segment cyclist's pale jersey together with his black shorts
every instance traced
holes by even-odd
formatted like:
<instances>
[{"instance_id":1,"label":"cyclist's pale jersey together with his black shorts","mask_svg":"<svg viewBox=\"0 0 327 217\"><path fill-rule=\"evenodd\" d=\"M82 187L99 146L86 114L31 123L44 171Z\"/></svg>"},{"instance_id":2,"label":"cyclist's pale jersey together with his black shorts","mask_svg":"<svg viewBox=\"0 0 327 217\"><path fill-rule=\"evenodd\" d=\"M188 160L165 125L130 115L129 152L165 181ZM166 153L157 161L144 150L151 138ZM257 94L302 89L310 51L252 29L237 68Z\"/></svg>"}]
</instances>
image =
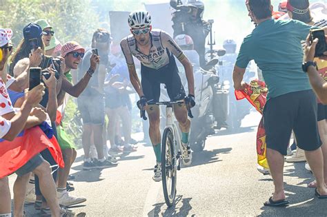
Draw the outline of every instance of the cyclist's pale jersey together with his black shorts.
<instances>
[{"instance_id":1,"label":"cyclist's pale jersey together with his black shorts","mask_svg":"<svg viewBox=\"0 0 327 217\"><path fill-rule=\"evenodd\" d=\"M174 40L164 31L150 32L150 53L143 54L137 48L135 38L130 35L121 41L121 50L128 65L134 65L132 56L141 61L141 86L146 99L159 101L160 84L164 83L170 100L184 99L186 96L174 56L184 59L184 53Z\"/></svg>"}]
</instances>

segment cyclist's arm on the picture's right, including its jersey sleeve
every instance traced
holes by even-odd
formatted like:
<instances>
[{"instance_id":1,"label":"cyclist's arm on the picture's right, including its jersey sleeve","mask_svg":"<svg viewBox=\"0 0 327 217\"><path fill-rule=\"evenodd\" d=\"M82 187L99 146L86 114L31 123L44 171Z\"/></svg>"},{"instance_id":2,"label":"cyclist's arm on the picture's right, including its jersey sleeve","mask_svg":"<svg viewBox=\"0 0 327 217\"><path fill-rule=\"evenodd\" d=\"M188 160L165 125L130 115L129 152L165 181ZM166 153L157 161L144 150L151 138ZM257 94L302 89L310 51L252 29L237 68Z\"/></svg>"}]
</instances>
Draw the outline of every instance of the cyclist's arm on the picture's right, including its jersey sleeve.
<instances>
[{"instance_id":1,"label":"cyclist's arm on the picture's right, including its jersey sleeve","mask_svg":"<svg viewBox=\"0 0 327 217\"><path fill-rule=\"evenodd\" d=\"M172 54L174 54L179 62L181 62L181 64L184 66L186 79L188 80L188 94L192 94L194 96L194 77L192 63L190 63L184 52L181 50L181 48L179 48L179 45L175 43L169 34L162 31L160 37L164 48L168 48L168 50L172 52Z\"/></svg>"}]
</instances>

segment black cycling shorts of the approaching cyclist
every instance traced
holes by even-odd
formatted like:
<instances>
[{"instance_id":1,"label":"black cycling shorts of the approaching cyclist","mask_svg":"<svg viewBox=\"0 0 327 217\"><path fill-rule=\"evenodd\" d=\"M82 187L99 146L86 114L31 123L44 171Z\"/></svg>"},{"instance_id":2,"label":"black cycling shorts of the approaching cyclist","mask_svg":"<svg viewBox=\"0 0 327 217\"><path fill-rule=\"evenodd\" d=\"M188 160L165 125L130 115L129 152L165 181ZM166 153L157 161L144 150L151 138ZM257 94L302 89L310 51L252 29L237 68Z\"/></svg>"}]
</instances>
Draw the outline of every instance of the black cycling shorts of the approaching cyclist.
<instances>
[{"instance_id":1,"label":"black cycling shorts of the approaching cyclist","mask_svg":"<svg viewBox=\"0 0 327 217\"><path fill-rule=\"evenodd\" d=\"M170 63L159 70L141 67L141 85L144 96L148 101L158 102L160 98L160 84L166 85L170 101L184 99L186 92L181 84L176 63Z\"/></svg>"}]
</instances>

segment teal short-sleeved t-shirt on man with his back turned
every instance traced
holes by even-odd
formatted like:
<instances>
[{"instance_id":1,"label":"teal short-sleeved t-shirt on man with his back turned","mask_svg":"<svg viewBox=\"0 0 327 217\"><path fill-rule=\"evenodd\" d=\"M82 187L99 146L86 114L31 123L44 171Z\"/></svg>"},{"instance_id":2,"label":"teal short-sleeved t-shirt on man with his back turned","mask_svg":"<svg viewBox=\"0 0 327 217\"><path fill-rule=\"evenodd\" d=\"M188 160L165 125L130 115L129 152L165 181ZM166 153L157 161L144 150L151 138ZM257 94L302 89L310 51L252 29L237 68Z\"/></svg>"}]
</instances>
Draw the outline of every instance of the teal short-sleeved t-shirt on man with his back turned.
<instances>
[{"instance_id":1,"label":"teal short-sleeved t-shirt on man with his back turned","mask_svg":"<svg viewBox=\"0 0 327 217\"><path fill-rule=\"evenodd\" d=\"M268 85L267 99L310 90L308 75L301 69L301 40L306 39L310 28L293 19L264 21L244 39L235 65L246 68L251 60L257 63Z\"/></svg>"}]
</instances>

